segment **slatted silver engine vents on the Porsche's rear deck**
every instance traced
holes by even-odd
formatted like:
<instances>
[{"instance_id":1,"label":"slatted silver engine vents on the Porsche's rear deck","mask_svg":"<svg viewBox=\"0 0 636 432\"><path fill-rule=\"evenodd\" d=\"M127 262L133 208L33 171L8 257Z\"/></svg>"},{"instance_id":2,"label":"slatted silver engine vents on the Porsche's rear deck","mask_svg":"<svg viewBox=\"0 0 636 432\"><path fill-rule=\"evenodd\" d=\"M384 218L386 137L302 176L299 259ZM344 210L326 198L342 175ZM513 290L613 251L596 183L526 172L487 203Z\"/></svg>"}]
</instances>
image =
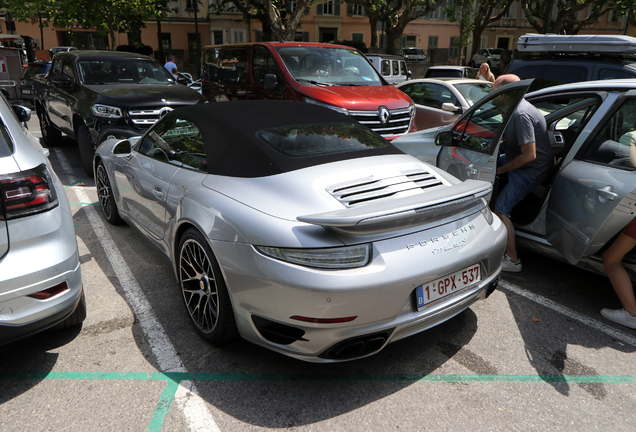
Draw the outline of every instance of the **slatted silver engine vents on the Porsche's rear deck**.
<instances>
[{"instance_id":1,"label":"slatted silver engine vents on the Porsche's rear deck","mask_svg":"<svg viewBox=\"0 0 636 432\"><path fill-rule=\"evenodd\" d=\"M413 195L444 186L435 174L426 170L415 170L403 171L402 175L383 179L368 177L352 180L328 187L327 192L345 207L353 207L398 194Z\"/></svg>"}]
</instances>

